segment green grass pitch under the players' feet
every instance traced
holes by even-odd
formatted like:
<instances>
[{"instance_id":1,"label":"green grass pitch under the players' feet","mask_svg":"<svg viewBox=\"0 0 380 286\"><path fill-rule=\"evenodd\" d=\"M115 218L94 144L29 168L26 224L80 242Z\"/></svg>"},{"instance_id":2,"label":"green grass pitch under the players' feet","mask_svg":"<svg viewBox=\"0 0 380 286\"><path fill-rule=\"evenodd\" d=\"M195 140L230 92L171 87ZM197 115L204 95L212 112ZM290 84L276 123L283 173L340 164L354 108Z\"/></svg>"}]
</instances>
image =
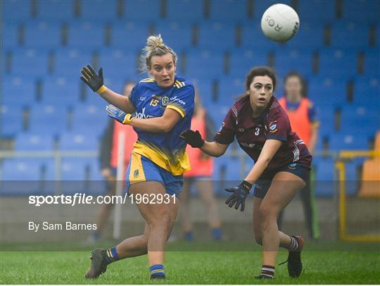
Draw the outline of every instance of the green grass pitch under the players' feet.
<instances>
[{"instance_id":1,"label":"green grass pitch under the players' feet","mask_svg":"<svg viewBox=\"0 0 380 286\"><path fill-rule=\"evenodd\" d=\"M236 244L236 242L235 242ZM252 244L252 243L251 243ZM167 279L153 284L379 284L379 244L309 243L303 251L304 271L289 278L286 264L276 266L276 278L258 281L260 248L233 251L234 244L177 243L169 246ZM242 244L241 244L242 245ZM88 248L85 247L86 249ZM4 247L3 247L4 249ZM170 250L171 249L171 250ZM182 251L178 251L183 249ZM185 250L186 249L186 250ZM212 251L201 251L212 249ZM222 251L223 249L224 251ZM1 284L150 284L146 256L108 266L97 280L86 280L89 251L1 251ZM280 251L278 262L286 260Z\"/></svg>"}]
</instances>

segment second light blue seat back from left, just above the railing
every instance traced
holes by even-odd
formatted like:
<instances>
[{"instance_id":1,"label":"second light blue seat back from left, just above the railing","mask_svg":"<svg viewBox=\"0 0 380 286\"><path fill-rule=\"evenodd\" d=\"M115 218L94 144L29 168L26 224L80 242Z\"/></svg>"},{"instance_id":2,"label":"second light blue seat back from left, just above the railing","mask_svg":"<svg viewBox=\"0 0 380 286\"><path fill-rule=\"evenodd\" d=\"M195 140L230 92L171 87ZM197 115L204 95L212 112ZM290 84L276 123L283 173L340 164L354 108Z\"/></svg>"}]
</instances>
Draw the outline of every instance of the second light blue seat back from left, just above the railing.
<instances>
[{"instance_id":1,"label":"second light blue seat back from left, just above the railing","mask_svg":"<svg viewBox=\"0 0 380 286\"><path fill-rule=\"evenodd\" d=\"M61 151L97 151L98 139L82 133L61 133L59 147Z\"/></svg>"}]
</instances>

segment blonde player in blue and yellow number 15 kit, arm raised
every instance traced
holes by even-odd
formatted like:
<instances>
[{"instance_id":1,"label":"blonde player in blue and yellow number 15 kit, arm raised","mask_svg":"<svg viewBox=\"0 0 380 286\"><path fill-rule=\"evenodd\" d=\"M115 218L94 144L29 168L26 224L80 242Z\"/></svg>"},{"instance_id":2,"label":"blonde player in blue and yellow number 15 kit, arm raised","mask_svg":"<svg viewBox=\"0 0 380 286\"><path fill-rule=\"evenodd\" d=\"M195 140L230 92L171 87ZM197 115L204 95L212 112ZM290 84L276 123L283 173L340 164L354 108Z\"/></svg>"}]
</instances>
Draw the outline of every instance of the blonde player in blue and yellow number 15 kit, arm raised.
<instances>
[{"instance_id":1,"label":"blonde player in blue and yellow number 15 kit, arm raised","mask_svg":"<svg viewBox=\"0 0 380 286\"><path fill-rule=\"evenodd\" d=\"M144 52L144 64L153 78L141 80L129 98L103 85L102 69L99 74L91 66L81 70L82 80L112 104L106 108L108 116L137 132L126 185L146 221L144 234L110 249L91 251L87 278L99 277L109 263L143 254L148 254L151 279L165 278L164 249L177 217L182 174L190 169L186 143L179 134L190 128L194 87L175 75L177 54L160 35L148 37Z\"/></svg>"}]
</instances>

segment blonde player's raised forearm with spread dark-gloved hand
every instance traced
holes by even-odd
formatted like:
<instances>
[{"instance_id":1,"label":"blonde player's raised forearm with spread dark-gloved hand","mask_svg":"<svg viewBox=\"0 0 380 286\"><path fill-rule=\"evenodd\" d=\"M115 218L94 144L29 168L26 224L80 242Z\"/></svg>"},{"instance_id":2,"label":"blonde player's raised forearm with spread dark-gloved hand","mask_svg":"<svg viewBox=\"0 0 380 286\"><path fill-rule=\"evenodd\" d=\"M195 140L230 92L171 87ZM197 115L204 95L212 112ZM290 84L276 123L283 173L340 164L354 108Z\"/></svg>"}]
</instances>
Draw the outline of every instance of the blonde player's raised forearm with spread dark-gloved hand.
<instances>
[{"instance_id":1,"label":"blonde player's raised forearm with spread dark-gloved hand","mask_svg":"<svg viewBox=\"0 0 380 286\"><path fill-rule=\"evenodd\" d=\"M99 69L99 73L96 74L94 68L87 65L80 71L80 79L88 85L93 92L98 93L103 99L108 101L113 106L120 108L126 113L133 113L135 111L134 105L129 101L128 97L118 94L108 89L103 82L103 68Z\"/></svg>"}]
</instances>

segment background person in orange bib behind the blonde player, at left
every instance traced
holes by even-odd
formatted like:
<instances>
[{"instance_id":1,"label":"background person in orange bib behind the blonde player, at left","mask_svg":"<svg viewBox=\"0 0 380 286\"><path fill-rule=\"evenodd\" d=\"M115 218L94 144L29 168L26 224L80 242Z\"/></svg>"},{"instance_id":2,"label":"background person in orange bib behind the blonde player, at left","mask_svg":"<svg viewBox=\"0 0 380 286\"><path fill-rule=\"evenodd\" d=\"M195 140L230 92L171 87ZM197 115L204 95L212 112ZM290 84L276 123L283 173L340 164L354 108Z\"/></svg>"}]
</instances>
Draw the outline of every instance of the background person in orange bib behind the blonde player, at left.
<instances>
[{"instance_id":1,"label":"background person in orange bib behind the blonde player, at left","mask_svg":"<svg viewBox=\"0 0 380 286\"><path fill-rule=\"evenodd\" d=\"M123 95L129 97L134 82L127 82L124 86ZM132 126L119 123L117 120L110 118L106 130L103 133L100 144L100 164L101 175L107 181L107 195L113 196L116 194L116 170L118 168L118 137L120 131L125 132L125 168L129 163L129 156L133 149L134 142L137 141L137 134ZM123 171L125 174L125 171ZM124 180L124 179L123 179ZM96 218L97 229L89 237L89 242L96 242L101 237L101 233L106 228L110 211L113 209L113 204L102 204Z\"/></svg>"}]
</instances>

